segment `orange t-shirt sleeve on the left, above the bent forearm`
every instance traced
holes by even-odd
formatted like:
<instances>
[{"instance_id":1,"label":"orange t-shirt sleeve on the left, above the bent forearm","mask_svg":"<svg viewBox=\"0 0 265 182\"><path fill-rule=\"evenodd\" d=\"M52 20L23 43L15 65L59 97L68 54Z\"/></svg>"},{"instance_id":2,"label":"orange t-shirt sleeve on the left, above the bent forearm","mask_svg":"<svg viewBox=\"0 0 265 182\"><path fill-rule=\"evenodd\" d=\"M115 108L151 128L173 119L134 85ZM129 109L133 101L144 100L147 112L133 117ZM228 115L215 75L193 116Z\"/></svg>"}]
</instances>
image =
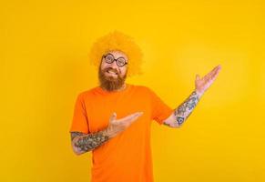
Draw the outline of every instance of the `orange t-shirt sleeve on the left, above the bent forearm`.
<instances>
[{"instance_id":1,"label":"orange t-shirt sleeve on the left, above the bent forearm","mask_svg":"<svg viewBox=\"0 0 265 182\"><path fill-rule=\"evenodd\" d=\"M84 99L81 94L76 98L76 104L74 108L74 115L72 118L72 124L70 127L70 132L82 132L88 134L88 119L87 111L84 103Z\"/></svg>"}]
</instances>

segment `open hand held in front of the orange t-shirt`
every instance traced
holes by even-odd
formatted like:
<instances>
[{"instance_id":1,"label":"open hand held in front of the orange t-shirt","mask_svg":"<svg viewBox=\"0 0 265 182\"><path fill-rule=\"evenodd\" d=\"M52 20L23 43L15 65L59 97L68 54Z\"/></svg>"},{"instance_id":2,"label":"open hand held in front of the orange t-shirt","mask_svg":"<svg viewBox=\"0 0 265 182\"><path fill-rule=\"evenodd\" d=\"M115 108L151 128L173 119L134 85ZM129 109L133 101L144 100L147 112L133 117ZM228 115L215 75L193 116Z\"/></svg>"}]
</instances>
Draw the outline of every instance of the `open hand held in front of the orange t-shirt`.
<instances>
[{"instance_id":1,"label":"open hand held in front of the orange t-shirt","mask_svg":"<svg viewBox=\"0 0 265 182\"><path fill-rule=\"evenodd\" d=\"M105 130L105 134L109 137L117 136L120 132L124 131L128 126L130 126L134 121L142 116L143 112L137 112L132 115L116 119L117 114L113 113L109 118L109 124Z\"/></svg>"}]
</instances>

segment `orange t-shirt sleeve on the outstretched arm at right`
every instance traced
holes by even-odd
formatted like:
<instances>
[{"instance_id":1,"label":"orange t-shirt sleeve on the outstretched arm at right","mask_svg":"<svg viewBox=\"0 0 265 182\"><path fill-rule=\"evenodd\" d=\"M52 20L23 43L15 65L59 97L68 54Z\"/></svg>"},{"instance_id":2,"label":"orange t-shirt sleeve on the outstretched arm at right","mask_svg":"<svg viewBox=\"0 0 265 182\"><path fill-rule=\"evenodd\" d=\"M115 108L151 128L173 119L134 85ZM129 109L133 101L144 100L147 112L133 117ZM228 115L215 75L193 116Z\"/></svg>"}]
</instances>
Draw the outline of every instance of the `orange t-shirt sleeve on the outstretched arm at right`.
<instances>
[{"instance_id":1,"label":"orange t-shirt sleeve on the outstretched arm at right","mask_svg":"<svg viewBox=\"0 0 265 182\"><path fill-rule=\"evenodd\" d=\"M151 118L161 125L174 112L174 109L168 106L154 91L149 89L149 92L152 109Z\"/></svg>"}]
</instances>

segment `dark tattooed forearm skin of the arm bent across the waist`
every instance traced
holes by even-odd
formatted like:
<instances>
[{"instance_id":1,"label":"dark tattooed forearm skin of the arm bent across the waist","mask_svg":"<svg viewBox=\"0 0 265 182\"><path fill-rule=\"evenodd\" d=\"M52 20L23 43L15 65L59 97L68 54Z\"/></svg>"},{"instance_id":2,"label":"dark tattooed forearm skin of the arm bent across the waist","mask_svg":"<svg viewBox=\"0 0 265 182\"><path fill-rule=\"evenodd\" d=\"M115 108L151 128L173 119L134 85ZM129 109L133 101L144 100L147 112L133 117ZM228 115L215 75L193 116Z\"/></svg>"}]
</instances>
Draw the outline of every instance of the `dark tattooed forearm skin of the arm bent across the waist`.
<instances>
[{"instance_id":1,"label":"dark tattooed forearm skin of the arm bent across the waist","mask_svg":"<svg viewBox=\"0 0 265 182\"><path fill-rule=\"evenodd\" d=\"M94 134L71 132L71 139L78 153L85 153L101 146L109 139L109 136L106 136L103 131L99 131Z\"/></svg>"}]
</instances>

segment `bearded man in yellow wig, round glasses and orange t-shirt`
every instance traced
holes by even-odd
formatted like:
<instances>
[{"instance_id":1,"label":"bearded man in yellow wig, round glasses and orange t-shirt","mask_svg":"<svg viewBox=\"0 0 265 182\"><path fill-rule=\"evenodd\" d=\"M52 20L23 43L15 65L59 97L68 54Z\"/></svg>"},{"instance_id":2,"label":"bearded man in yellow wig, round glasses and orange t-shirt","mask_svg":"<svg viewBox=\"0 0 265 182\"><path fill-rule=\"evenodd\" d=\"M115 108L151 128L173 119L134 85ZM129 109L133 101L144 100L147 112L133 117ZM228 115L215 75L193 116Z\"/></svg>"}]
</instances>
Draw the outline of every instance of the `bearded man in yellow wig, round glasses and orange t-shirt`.
<instances>
[{"instance_id":1,"label":"bearded man in yellow wig, round glasses and orange t-shirt","mask_svg":"<svg viewBox=\"0 0 265 182\"><path fill-rule=\"evenodd\" d=\"M151 121L181 126L220 66L202 78L197 75L194 91L172 109L147 86L125 82L127 75L141 73L141 52L127 35L114 32L98 39L90 57L98 66L100 86L77 96L70 128L73 150L76 155L92 151L92 182L151 182Z\"/></svg>"}]
</instances>

